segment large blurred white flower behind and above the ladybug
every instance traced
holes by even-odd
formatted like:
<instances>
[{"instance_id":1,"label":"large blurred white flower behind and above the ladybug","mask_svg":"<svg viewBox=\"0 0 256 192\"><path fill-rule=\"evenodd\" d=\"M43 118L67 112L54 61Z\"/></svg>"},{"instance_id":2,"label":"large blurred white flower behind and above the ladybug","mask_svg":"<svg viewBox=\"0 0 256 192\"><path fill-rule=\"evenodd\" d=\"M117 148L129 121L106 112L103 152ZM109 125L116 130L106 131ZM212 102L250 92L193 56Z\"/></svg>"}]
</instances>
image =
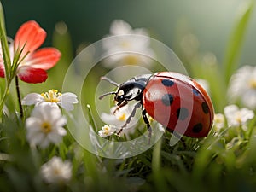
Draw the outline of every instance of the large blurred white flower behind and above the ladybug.
<instances>
[{"instance_id":1,"label":"large blurred white flower behind and above the ladybug","mask_svg":"<svg viewBox=\"0 0 256 192\"><path fill-rule=\"evenodd\" d=\"M109 37L112 38L105 38L102 42L103 49L111 55L105 62L108 67L117 64L148 65L152 63L153 60L149 57L154 55L154 51L149 46L150 38L145 29L132 29L124 20L113 20ZM116 52L119 54L112 55Z\"/></svg>"}]
</instances>

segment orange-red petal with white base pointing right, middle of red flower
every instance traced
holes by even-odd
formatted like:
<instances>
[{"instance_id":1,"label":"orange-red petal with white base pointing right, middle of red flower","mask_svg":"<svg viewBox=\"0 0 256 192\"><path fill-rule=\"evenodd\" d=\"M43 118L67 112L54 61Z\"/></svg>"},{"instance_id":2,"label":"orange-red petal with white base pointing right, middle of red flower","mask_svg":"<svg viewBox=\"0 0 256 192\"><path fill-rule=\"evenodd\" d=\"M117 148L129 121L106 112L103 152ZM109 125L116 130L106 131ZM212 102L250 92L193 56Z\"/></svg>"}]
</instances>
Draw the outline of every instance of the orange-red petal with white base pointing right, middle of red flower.
<instances>
[{"instance_id":1,"label":"orange-red petal with white base pointing right, middle of red flower","mask_svg":"<svg viewBox=\"0 0 256 192\"><path fill-rule=\"evenodd\" d=\"M57 61L61 58L61 52L55 48L43 48L38 49L29 55L27 59L27 65L31 65L34 68L42 68L48 70L54 67Z\"/></svg>"}]
</instances>

